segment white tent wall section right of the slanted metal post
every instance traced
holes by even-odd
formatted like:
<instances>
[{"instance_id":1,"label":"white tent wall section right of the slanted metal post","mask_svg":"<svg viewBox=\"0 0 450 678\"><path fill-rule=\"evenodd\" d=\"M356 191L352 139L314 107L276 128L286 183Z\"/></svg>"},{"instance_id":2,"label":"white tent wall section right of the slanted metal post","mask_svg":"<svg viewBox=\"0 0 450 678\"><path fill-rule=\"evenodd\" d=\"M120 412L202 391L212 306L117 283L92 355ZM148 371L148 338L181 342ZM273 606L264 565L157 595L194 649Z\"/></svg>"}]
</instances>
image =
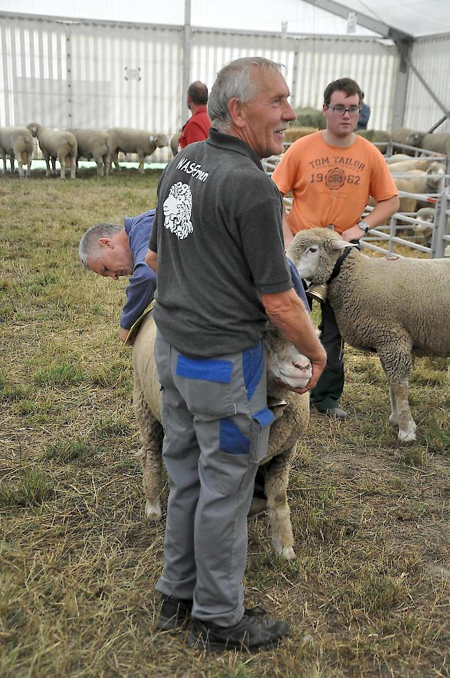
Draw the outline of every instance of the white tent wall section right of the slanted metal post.
<instances>
[{"instance_id":1,"label":"white tent wall section right of the slanted metal post","mask_svg":"<svg viewBox=\"0 0 450 678\"><path fill-rule=\"evenodd\" d=\"M411 62L438 99L450 110L450 33L419 37L411 50ZM413 71L408 78L405 127L426 132L444 115L440 106ZM447 118L436 132L450 132Z\"/></svg>"}]
</instances>

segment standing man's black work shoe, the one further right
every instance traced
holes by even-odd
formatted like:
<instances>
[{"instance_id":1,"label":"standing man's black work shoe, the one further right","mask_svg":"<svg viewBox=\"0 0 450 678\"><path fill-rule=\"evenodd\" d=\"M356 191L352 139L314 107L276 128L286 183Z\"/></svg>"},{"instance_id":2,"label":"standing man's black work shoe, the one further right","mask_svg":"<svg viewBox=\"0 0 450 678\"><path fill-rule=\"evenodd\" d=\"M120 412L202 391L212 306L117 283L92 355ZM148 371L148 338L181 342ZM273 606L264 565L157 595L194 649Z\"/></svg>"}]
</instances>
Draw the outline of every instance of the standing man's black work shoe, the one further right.
<instances>
[{"instance_id":1,"label":"standing man's black work shoe, the one further right","mask_svg":"<svg viewBox=\"0 0 450 678\"><path fill-rule=\"evenodd\" d=\"M262 608L256 607L246 609L242 619L233 626L218 626L213 622L193 619L188 645L199 650L255 650L277 645L290 632L286 622L273 619Z\"/></svg>"}]
</instances>

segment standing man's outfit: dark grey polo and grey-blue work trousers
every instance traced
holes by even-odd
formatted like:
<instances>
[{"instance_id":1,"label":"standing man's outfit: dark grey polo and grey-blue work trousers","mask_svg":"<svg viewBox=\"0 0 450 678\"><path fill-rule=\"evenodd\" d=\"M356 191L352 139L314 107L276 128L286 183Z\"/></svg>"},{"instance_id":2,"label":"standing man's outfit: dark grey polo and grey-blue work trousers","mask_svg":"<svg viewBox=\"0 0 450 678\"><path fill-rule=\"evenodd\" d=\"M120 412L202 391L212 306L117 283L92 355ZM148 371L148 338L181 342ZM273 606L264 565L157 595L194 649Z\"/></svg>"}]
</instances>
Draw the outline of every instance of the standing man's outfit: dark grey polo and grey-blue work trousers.
<instances>
[{"instance_id":1,"label":"standing man's outfit: dark grey polo and grey-blue work trousers","mask_svg":"<svg viewBox=\"0 0 450 678\"><path fill-rule=\"evenodd\" d=\"M230 626L244 614L246 516L273 421L258 292L292 287L280 195L253 150L216 130L172 160L158 195L154 355L170 494L156 590Z\"/></svg>"}]
</instances>

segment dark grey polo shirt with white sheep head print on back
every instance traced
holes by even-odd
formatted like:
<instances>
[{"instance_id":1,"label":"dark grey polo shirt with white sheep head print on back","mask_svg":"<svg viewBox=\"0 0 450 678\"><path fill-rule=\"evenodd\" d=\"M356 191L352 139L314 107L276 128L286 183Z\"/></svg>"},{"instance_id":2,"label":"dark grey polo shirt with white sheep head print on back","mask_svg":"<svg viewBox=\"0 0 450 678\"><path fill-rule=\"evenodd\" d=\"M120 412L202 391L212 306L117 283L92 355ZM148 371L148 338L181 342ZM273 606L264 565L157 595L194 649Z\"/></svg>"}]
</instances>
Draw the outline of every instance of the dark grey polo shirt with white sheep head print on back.
<instances>
[{"instance_id":1,"label":"dark grey polo shirt with white sheep head print on back","mask_svg":"<svg viewBox=\"0 0 450 678\"><path fill-rule=\"evenodd\" d=\"M156 325L188 356L255 345L267 322L260 293L292 287L280 193L244 141L214 129L165 168L149 247Z\"/></svg>"}]
</instances>

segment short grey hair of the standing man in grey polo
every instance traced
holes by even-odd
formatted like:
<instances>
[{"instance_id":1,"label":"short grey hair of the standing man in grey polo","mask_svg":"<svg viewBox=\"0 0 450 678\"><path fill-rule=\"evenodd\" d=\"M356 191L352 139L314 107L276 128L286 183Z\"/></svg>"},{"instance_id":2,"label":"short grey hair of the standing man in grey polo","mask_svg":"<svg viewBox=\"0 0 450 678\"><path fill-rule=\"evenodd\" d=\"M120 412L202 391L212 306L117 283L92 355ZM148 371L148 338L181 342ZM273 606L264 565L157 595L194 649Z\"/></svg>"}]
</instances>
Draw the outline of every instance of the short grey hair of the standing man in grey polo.
<instances>
[{"instance_id":1,"label":"short grey hair of the standing man in grey polo","mask_svg":"<svg viewBox=\"0 0 450 678\"><path fill-rule=\"evenodd\" d=\"M251 72L255 68L280 73L284 66L264 57L244 57L229 62L217 73L208 98L208 115L219 132L226 132L231 126L230 100L237 98L241 103L247 103L260 91Z\"/></svg>"}]
</instances>

